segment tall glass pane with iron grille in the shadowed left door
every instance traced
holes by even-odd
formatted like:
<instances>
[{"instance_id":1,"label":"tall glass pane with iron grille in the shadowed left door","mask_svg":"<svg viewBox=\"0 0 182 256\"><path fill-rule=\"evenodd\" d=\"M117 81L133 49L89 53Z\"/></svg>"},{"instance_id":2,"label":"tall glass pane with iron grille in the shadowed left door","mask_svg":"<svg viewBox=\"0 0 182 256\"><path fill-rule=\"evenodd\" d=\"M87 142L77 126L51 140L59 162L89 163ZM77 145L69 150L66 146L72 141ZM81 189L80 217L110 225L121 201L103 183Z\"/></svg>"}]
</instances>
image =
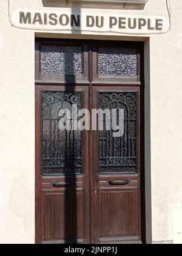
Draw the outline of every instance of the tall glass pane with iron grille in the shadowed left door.
<instances>
[{"instance_id":1,"label":"tall glass pane with iron grille in the shadowed left door","mask_svg":"<svg viewBox=\"0 0 182 256\"><path fill-rule=\"evenodd\" d=\"M81 93L42 92L43 175L82 172L81 131L58 127L61 109L72 115L73 104L81 109Z\"/></svg>"}]
</instances>

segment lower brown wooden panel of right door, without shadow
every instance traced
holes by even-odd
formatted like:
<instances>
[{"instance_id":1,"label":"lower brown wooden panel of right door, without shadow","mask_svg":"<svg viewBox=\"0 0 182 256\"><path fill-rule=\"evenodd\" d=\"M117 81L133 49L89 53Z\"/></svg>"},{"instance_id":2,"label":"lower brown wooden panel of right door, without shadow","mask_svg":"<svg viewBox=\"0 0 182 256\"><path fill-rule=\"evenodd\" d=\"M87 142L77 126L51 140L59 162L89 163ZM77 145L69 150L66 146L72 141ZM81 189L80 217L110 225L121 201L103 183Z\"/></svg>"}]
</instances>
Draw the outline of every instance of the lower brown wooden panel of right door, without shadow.
<instances>
[{"instance_id":1,"label":"lower brown wooden panel of right door, without shadow","mask_svg":"<svg viewBox=\"0 0 182 256\"><path fill-rule=\"evenodd\" d=\"M137 190L119 188L112 191L102 190L99 196L101 197L101 237L136 235Z\"/></svg>"}]
</instances>

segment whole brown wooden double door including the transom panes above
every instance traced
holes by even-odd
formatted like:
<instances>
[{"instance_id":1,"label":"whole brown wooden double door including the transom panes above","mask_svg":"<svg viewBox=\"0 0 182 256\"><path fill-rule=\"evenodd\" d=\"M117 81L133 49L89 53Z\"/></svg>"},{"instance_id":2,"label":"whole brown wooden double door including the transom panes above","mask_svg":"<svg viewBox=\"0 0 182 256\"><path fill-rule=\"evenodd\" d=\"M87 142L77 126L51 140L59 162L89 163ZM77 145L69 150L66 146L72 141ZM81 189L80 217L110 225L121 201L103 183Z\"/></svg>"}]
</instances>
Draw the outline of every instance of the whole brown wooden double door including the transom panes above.
<instances>
[{"instance_id":1,"label":"whole brown wooden double door including the transom panes above","mask_svg":"<svg viewBox=\"0 0 182 256\"><path fill-rule=\"evenodd\" d=\"M36 243L141 243L141 51L36 42ZM89 111L90 127L61 130L62 109L72 121L75 106ZM104 114L103 130L92 129L92 109L123 109L123 135L106 130Z\"/></svg>"}]
</instances>

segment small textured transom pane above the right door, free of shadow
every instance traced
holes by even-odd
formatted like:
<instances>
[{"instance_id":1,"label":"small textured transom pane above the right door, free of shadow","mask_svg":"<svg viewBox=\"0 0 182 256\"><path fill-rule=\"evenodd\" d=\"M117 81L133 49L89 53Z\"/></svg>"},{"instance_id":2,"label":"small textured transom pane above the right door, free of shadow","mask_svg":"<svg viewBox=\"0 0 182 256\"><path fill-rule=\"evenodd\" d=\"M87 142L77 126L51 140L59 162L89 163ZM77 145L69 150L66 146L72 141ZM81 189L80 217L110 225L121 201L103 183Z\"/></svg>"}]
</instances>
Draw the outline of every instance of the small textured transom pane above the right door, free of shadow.
<instances>
[{"instance_id":1,"label":"small textured transom pane above the right door, free of shadow","mask_svg":"<svg viewBox=\"0 0 182 256\"><path fill-rule=\"evenodd\" d=\"M99 47L98 75L135 77L137 58L136 49Z\"/></svg>"}]
</instances>

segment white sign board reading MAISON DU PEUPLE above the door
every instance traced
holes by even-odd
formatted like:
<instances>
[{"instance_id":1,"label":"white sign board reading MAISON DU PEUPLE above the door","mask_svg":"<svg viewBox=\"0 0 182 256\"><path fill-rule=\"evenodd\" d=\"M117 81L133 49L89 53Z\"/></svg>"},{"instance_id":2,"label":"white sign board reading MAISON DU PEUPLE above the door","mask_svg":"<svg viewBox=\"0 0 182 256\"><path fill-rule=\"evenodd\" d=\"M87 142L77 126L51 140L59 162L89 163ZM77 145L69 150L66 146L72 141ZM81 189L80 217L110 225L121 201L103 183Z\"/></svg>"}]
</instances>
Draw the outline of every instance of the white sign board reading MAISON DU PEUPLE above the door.
<instances>
[{"instance_id":1,"label":"white sign board reading MAISON DU PEUPLE above the door","mask_svg":"<svg viewBox=\"0 0 182 256\"><path fill-rule=\"evenodd\" d=\"M72 12L16 9L11 15L12 25L35 30L77 30L114 33L164 33L169 30L169 20L164 16L123 15L108 12Z\"/></svg>"}]
</instances>

